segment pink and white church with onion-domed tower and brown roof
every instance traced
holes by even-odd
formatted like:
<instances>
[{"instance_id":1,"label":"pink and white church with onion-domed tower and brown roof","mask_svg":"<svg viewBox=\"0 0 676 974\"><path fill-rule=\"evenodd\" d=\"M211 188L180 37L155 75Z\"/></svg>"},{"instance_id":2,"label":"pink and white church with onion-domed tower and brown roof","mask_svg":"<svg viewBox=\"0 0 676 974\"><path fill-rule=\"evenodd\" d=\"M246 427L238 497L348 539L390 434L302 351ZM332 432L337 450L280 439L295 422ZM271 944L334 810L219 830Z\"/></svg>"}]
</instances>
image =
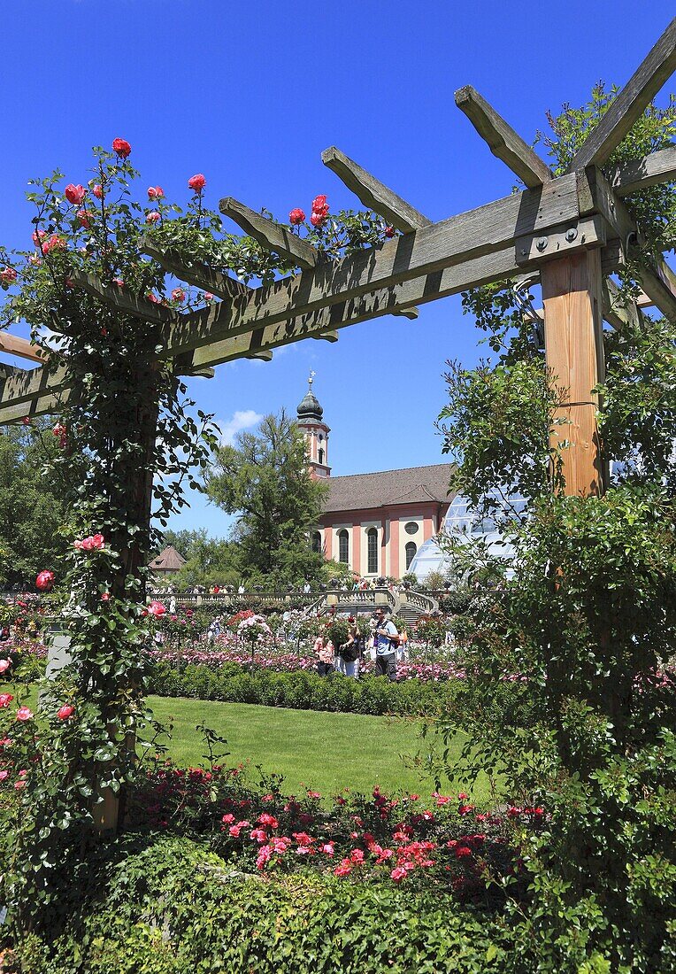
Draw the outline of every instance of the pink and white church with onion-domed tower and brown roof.
<instances>
[{"instance_id":1,"label":"pink and white church with onion-domed tower and brown roof","mask_svg":"<svg viewBox=\"0 0 676 974\"><path fill-rule=\"evenodd\" d=\"M416 551L439 533L452 496L450 464L352 473L333 477L324 410L309 388L297 410L307 442L310 476L326 479L330 493L312 546L349 565L361 578L401 578Z\"/></svg>"}]
</instances>

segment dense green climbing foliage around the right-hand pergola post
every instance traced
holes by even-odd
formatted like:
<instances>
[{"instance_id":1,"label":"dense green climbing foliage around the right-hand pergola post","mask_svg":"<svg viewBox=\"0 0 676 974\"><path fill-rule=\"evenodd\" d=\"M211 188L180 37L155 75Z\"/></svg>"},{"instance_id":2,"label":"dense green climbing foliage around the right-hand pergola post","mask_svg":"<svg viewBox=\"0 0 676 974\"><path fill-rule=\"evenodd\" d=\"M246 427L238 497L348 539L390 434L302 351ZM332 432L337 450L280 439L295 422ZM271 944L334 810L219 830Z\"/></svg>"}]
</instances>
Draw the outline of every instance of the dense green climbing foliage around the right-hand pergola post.
<instances>
[{"instance_id":1,"label":"dense green climbing foliage around the right-hand pergola post","mask_svg":"<svg viewBox=\"0 0 676 974\"><path fill-rule=\"evenodd\" d=\"M551 119L557 170L612 98L599 88ZM675 121L673 102L651 107L608 165L669 144ZM626 199L658 251L673 249L675 198L671 185ZM627 300L635 270L623 272ZM523 942L541 952L524 969L673 971L676 323L643 318L606 336L599 428L610 488L570 497L550 447L559 393L531 324L497 286L464 303L495 355L476 369L451 364L445 451L453 487L514 544L516 577L472 604L467 703L445 736L469 731L512 800L547 808L541 834L523 836L533 893ZM509 503L515 490L523 512ZM515 673L526 682L506 708L503 681Z\"/></svg>"}]
</instances>

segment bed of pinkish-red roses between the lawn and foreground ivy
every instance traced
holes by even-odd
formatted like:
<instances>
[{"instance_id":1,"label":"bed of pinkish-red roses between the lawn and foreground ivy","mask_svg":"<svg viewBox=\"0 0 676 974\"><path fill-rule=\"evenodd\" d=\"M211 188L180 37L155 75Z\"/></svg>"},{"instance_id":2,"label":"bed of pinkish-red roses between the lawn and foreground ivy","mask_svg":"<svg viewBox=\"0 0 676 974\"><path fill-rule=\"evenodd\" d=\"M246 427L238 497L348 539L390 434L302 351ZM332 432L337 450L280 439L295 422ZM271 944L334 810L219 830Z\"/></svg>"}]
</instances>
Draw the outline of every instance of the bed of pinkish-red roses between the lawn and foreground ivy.
<instances>
[{"instance_id":1,"label":"bed of pinkish-red roses between the lawn and foreground ivy","mask_svg":"<svg viewBox=\"0 0 676 974\"><path fill-rule=\"evenodd\" d=\"M258 873L310 867L338 878L433 885L459 897L485 895L486 884L518 879L517 829L537 830L542 807L480 811L467 795L389 796L345 790L324 802L315 791L283 795L251 788L246 770L218 765L145 772L133 796L136 827L187 830L210 837L214 850Z\"/></svg>"}]
</instances>

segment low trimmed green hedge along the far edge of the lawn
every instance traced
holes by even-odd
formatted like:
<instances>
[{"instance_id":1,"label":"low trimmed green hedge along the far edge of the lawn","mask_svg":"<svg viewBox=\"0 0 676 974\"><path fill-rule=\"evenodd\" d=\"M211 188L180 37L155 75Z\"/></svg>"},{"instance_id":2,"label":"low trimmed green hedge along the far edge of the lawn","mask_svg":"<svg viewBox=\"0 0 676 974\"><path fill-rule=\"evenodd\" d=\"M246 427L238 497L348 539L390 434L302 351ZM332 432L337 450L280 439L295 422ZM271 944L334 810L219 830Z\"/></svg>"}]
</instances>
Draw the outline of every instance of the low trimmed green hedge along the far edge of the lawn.
<instances>
[{"instance_id":1,"label":"low trimmed green hedge along the far edge of the lawn","mask_svg":"<svg viewBox=\"0 0 676 974\"><path fill-rule=\"evenodd\" d=\"M149 692L160 696L188 696L229 703L260 703L295 710L330 710L354 714L405 714L435 716L447 712L461 690L461 681L439 683L406 680L390 683L376 677L361 680L326 678L298 670L247 673L236 664L213 669L190 664L180 672L166 663L154 665Z\"/></svg>"}]
</instances>

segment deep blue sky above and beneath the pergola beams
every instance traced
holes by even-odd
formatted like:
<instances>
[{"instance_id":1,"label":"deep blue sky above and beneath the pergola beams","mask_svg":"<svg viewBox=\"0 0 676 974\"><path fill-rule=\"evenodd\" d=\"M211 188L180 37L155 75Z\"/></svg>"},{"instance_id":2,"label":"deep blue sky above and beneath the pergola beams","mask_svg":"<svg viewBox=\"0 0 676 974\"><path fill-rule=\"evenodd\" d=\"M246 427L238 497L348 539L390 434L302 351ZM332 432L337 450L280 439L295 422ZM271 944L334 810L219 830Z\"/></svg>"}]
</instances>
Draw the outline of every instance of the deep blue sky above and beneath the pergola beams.
<instances>
[{"instance_id":1,"label":"deep blue sky above and beneath the pergola beams","mask_svg":"<svg viewBox=\"0 0 676 974\"><path fill-rule=\"evenodd\" d=\"M27 244L28 178L59 167L85 182L90 147L116 136L179 203L203 172L214 208L234 196L284 218L318 193L334 210L358 206L320 160L338 145L442 219L514 183L456 109L456 89L474 85L530 140L547 109L581 104L599 79L622 85L672 16L667 0L4 0L0 240ZM335 474L434 464L445 359L473 363L477 338L454 297L417 321L343 329L336 345L221 365L191 393L233 430L295 409L313 369ZM222 535L229 523L196 496L171 526Z\"/></svg>"}]
</instances>

